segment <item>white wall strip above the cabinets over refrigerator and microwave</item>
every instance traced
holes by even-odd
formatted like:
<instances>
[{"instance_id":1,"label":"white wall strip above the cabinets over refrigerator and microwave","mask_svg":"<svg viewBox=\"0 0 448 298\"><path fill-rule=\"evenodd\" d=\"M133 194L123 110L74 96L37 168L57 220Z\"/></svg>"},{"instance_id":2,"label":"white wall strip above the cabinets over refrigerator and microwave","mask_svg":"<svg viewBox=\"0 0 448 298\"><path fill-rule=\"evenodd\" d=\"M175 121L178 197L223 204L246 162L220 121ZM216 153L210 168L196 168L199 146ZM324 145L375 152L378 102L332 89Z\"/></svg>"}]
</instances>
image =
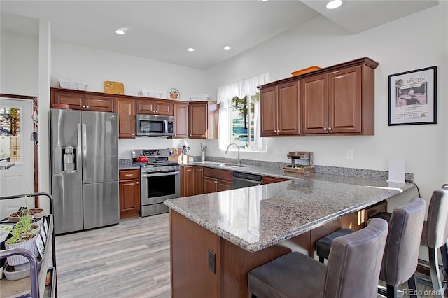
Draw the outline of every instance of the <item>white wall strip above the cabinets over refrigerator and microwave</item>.
<instances>
[{"instance_id":1,"label":"white wall strip above the cabinets over refrigerator and microwave","mask_svg":"<svg viewBox=\"0 0 448 298\"><path fill-rule=\"evenodd\" d=\"M87 83L94 92L104 92L104 81L111 80L123 83L127 95L154 90L165 99L167 90L176 88L184 101L205 89L200 69L52 41L51 86L59 87L60 78Z\"/></svg>"}]
</instances>

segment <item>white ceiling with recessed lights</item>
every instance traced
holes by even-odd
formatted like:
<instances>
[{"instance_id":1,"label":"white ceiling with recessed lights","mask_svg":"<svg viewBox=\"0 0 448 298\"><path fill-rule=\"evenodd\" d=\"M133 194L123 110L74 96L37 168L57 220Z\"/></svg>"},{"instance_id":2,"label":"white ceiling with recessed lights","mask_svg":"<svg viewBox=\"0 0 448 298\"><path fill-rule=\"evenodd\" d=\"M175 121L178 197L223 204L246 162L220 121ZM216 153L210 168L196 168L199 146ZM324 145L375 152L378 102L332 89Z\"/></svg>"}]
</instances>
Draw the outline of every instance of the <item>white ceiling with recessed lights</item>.
<instances>
[{"instance_id":1,"label":"white ceiling with recessed lights","mask_svg":"<svg viewBox=\"0 0 448 298\"><path fill-rule=\"evenodd\" d=\"M318 15L356 34L438 3L346 0L337 10L327 10L326 2L1 0L0 26L37 35L37 19L49 20L57 41L209 69ZM115 34L120 27L129 28L127 34ZM223 50L225 45L232 49ZM190 47L195 52L187 52Z\"/></svg>"}]
</instances>

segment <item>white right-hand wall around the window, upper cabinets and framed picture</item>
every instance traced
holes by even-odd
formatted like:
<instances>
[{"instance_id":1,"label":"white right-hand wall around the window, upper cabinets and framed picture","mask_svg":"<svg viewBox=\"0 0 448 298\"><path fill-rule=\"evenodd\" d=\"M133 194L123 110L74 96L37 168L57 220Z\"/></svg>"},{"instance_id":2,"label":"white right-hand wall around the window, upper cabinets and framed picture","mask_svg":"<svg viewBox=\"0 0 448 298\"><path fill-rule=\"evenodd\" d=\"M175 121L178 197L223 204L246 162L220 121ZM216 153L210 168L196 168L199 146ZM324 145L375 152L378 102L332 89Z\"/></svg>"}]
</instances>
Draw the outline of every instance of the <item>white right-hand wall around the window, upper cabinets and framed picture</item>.
<instances>
[{"instance_id":1,"label":"white right-hand wall around the window, upper cabinets and framed picture","mask_svg":"<svg viewBox=\"0 0 448 298\"><path fill-rule=\"evenodd\" d=\"M308 136L268 138L268 155L243 152L243 159L288 162L286 152L312 151L314 163L360 169L388 170L388 158L405 159L405 171L415 174L422 196L447 183L447 66L448 6L438 6L403 17L381 27L349 34L316 17L300 27L207 70L207 93L221 85L269 71L271 80L291 76L307 66L339 64L360 57L379 62L375 71L374 136ZM388 126L389 74L437 65L437 125ZM214 155L218 143L209 141ZM346 159L346 149L353 159Z\"/></svg>"}]
</instances>

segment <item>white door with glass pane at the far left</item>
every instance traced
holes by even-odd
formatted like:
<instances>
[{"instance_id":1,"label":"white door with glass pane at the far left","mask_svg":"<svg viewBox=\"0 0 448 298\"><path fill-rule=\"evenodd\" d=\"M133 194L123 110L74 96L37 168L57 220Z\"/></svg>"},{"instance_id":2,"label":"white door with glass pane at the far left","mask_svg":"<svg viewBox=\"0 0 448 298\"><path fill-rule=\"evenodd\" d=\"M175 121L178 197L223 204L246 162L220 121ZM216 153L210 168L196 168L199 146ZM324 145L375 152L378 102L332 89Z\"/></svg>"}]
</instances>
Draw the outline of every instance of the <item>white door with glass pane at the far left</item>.
<instances>
[{"instance_id":1,"label":"white door with glass pane at the far left","mask_svg":"<svg viewBox=\"0 0 448 298\"><path fill-rule=\"evenodd\" d=\"M0 197L34 192L32 113L33 101L0 97L0 160L15 162L15 166L0 170ZM33 207L34 198L27 203ZM25 206L25 198L0 201L0 220L20 206Z\"/></svg>"}]
</instances>

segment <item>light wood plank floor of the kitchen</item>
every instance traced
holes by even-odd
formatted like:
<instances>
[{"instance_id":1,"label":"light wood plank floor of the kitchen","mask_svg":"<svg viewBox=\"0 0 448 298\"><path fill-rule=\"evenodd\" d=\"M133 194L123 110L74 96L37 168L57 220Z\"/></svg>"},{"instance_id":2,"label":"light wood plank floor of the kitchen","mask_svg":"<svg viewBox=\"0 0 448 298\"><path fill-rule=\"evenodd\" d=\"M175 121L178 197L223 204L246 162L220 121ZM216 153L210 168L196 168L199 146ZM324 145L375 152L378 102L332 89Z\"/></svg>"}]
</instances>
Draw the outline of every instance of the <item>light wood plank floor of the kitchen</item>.
<instances>
[{"instance_id":1,"label":"light wood plank floor of the kitchen","mask_svg":"<svg viewBox=\"0 0 448 298\"><path fill-rule=\"evenodd\" d=\"M59 297L170 297L169 213L56 236L56 252Z\"/></svg>"}]
</instances>

